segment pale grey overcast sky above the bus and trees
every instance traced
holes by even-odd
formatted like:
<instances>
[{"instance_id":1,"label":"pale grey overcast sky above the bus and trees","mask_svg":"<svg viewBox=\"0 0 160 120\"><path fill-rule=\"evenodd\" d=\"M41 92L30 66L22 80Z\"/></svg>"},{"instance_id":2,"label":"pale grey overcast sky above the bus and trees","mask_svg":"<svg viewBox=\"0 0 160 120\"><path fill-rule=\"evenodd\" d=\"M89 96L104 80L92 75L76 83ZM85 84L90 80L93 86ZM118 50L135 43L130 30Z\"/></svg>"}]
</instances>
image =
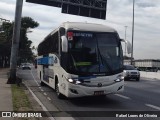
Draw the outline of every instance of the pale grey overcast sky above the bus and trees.
<instances>
[{"instance_id":1,"label":"pale grey overcast sky above the bus and trees","mask_svg":"<svg viewBox=\"0 0 160 120\"><path fill-rule=\"evenodd\" d=\"M108 0L106 20L62 14L60 8L26 3L22 16L32 17L40 26L28 33L34 46L62 22L88 22L115 28L121 38L132 40L133 0ZM14 21L16 0L0 0L0 18ZM134 58L160 59L160 0L135 0ZM123 45L124 49L124 45Z\"/></svg>"}]
</instances>

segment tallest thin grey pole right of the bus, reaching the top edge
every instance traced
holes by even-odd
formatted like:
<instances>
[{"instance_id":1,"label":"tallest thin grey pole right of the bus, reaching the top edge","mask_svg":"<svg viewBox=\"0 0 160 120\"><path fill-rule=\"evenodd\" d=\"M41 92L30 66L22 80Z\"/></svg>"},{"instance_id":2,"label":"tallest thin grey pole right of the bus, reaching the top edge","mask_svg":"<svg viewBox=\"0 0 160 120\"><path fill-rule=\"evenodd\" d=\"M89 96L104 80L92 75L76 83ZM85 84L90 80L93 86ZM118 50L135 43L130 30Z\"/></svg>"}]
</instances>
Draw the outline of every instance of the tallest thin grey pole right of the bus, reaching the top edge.
<instances>
[{"instance_id":1,"label":"tallest thin grey pole right of the bus, reaching the top edge","mask_svg":"<svg viewBox=\"0 0 160 120\"><path fill-rule=\"evenodd\" d=\"M133 65L133 40L134 40L134 4L135 4L135 0L133 0L133 21L132 21L132 53L131 53L131 65Z\"/></svg>"}]
</instances>

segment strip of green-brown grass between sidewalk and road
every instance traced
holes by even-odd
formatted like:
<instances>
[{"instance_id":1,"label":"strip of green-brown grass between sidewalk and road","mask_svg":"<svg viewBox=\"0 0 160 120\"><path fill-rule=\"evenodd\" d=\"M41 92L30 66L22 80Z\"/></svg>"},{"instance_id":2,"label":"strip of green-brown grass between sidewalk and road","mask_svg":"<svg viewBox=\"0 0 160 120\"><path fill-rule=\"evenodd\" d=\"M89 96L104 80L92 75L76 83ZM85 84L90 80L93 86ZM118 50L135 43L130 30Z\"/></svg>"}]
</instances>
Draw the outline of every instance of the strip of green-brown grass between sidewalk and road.
<instances>
[{"instance_id":1,"label":"strip of green-brown grass between sidewalk and road","mask_svg":"<svg viewBox=\"0 0 160 120\"><path fill-rule=\"evenodd\" d=\"M14 111L33 111L28 96L25 93L25 87L12 84L12 101Z\"/></svg>"}]
</instances>

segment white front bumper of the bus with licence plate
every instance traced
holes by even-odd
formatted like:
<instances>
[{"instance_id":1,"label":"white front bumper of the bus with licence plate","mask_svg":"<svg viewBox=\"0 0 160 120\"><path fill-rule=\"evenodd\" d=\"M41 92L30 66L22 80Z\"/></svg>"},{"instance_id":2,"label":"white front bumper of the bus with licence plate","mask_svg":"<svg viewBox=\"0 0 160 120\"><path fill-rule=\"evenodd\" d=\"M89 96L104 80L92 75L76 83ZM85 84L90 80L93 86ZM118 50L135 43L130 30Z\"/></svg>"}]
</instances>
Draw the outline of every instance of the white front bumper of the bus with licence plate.
<instances>
[{"instance_id":1,"label":"white front bumper of the bus with licence plate","mask_svg":"<svg viewBox=\"0 0 160 120\"><path fill-rule=\"evenodd\" d=\"M73 97L84 97L84 96L102 96L107 94L116 94L123 92L124 81L115 82L114 84L101 87L88 87L83 85L69 84L66 92L66 96L69 98Z\"/></svg>"}]
</instances>

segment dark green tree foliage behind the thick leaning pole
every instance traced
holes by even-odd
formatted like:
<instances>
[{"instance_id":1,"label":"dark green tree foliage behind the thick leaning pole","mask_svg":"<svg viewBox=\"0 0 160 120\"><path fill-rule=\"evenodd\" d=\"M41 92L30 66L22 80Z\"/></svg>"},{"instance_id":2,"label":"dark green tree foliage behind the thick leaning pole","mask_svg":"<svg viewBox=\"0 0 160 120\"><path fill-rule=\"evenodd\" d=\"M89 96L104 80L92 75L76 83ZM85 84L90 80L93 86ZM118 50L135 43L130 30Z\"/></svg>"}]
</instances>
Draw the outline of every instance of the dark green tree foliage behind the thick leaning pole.
<instances>
[{"instance_id":1,"label":"dark green tree foliage behind the thick leaning pole","mask_svg":"<svg viewBox=\"0 0 160 120\"><path fill-rule=\"evenodd\" d=\"M4 67L4 61L8 66L11 53L12 36L13 36L14 22L4 22L2 30L0 32L0 67ZM28 39L27 32L29 29L34 29L39 26L39 23L34 21L30 17L23 17L21 19L21 32L20 32L20 43L19 43L19 57L18 63L29 62L33 60L33 53L31 49L32 41Z\"/></svg>"}]
</instances>

